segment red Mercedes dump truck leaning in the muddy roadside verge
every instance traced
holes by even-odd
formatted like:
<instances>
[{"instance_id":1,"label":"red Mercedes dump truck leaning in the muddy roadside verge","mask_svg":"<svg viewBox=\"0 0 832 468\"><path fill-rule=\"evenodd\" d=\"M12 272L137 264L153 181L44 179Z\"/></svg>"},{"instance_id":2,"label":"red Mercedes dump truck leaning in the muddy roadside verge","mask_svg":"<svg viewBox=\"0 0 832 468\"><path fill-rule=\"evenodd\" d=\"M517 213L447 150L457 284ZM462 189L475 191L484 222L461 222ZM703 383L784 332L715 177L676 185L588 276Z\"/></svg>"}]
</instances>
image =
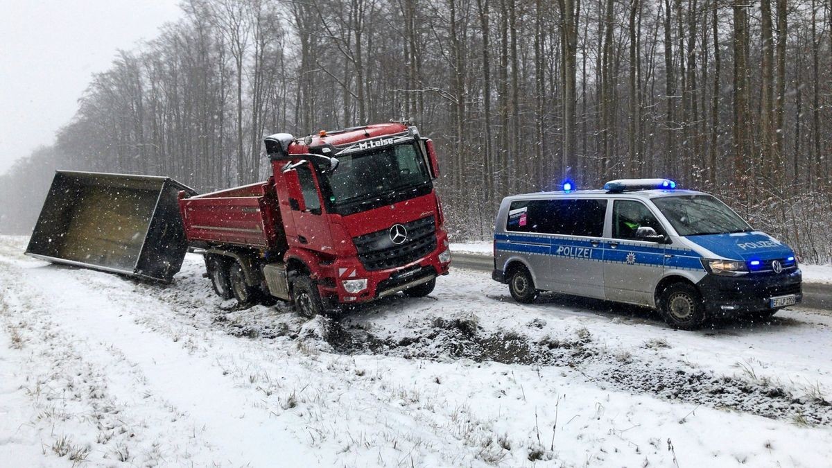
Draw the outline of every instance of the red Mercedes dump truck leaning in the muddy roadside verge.
<instances>
[{"instance_id":1,"label":"red Mercedes dump truck leaning in the muddy roadside verge","mask_svg":"<svg viewBox=\"0 0 832 468\"><path fill-rule=\"evenodd\" d=\"M191 196L180 211L216 293L276 297L304 316L404 291L426 296L451 261L433 142L407 122L265 138L266 182Z\"/></svg>"}]
</instances>

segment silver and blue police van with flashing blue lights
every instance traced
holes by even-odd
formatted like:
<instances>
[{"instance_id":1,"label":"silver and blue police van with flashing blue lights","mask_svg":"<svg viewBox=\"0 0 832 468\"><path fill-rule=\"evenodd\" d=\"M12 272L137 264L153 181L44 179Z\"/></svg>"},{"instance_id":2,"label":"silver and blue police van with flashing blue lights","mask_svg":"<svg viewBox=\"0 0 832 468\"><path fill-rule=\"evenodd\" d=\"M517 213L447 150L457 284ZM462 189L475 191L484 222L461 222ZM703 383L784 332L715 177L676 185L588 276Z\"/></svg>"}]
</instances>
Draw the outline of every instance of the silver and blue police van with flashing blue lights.
<instances>
[{"instance_id":1,"label":"silver and blue police van with flashing blue lights","mask_svg":"<svg viewBox=\"0 0 832 468\"><path fill-rule=\"evenodd\" d=\"M657 309L695 329L716 314L766 318L802 299L795 252L707 193L666 179L506 197L493 279L513 298L540 291Z\"/></svg>"}]
</instances>

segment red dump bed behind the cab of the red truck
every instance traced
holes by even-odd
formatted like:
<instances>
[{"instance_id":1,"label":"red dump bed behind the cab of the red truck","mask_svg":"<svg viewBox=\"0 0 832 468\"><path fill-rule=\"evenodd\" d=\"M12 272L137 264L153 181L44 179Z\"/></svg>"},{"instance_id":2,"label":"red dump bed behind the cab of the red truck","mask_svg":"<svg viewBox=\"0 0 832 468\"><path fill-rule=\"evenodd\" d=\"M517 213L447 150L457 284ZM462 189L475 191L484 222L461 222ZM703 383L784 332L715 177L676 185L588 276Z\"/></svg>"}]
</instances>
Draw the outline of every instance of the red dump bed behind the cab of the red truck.
<instances>
[{"instance_id":1,"label":"red dump bed behind the cab of the red truck","mask_svg":"<svg viewBox=\"0 0 832 468\"><path fill-rule=\"evenodd\" d=\"M237 244L267 250L285 246L275 184L270 178L179 201L188 242Z\"/></svg>"}]
</instances>

